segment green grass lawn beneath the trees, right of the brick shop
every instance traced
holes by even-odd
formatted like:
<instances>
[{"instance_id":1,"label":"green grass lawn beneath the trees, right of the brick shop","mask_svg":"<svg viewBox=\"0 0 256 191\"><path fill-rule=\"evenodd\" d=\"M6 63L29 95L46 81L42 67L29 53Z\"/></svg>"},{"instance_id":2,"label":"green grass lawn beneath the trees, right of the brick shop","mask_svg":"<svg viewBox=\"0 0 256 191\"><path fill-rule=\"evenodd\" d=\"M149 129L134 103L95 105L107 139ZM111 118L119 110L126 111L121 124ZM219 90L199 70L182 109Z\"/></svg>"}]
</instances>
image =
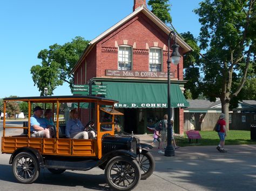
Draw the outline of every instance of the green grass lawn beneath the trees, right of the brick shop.
<instances>
[{"instance_id":1,"label":"green grass lawn beneath the trees, right of the brick shop","mask_svg":"<svg viewBox=\"0 0 256 191\"><path fill-rule=\"evenodd\" d=\"M188 143L187 139L175 137L177 145L179 146L190 146L190 145L217 145L219 143L218 133L215 131L199 131L201 135L201 139L198 140L198 144L196 140L193 140L193 143ZM230 130L227 132L227 137L225 138L225 145L250 145L256 144L256 141L251 140L251 132L250 131L238 131L238 130Z\"/></svg>"}]
</instances>

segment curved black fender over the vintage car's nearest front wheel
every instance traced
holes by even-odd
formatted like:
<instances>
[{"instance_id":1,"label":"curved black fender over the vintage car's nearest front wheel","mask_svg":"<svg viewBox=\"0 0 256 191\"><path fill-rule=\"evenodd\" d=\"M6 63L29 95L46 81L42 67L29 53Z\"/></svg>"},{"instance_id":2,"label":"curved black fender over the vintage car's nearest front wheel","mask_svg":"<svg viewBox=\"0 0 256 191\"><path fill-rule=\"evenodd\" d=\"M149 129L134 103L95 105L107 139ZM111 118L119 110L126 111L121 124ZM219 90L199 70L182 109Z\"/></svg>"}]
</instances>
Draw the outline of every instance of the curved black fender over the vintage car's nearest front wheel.
<instances>
[{"instance_id":1,"label":"curved black fender over the vintage car's nearest front wheel","mask_svg":"<svg viewBox=\"0 0 256 191\"><path fill-rule=\"evenodd\" d=\"M133 159L136 159L136 157L137 157L137 154L135 154L131 151L127 151L127 150L111 151L111 152L105 154L102 157L102 159L100 159L97 166L104 165L104 163L107 163L111 158L116 157L116 156L120 156L120 155L123 155L123 156L126 156L126 157L131 157Z\"/></svg>"}]
</instances>

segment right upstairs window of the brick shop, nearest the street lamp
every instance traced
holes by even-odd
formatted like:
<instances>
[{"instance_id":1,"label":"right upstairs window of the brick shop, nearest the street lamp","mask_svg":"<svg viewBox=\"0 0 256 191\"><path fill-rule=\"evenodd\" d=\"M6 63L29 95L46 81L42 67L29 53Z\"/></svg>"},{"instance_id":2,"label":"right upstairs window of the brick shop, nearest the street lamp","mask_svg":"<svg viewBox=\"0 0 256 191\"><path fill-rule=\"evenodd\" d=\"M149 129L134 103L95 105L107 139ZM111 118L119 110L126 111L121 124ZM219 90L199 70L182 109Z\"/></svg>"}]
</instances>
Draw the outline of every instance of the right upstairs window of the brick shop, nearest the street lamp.
<instances>
[{"instance_id":1,"label":"right upstairs window of the brick shop, nearest the street lamp","mask_svg":"<svg viewBox=\"0 0 256 191\"><path fill-rule=\"evenodd\" d=\"M158 48L150 48L149 70L160 72L162 70L162 51Z\"/></svg>"}]
</instances>

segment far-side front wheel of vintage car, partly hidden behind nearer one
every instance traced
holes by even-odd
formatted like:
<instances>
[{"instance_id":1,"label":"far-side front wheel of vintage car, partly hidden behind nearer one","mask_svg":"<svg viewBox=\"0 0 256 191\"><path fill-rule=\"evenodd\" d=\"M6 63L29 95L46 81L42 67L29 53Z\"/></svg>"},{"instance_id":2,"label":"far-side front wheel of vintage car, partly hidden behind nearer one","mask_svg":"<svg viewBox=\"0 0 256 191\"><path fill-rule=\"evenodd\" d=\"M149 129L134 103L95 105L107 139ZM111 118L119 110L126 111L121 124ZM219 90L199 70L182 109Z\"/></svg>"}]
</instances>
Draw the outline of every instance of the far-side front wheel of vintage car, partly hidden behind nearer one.
<instances>
[{"instance_id":1,"label":"far-side front wheel of vintage car, partly hidden behind nearer one","mask_svg":"<svg viewBox=\"0 0 256 191\"><path fill-rule=\"evenodd\" d=\"M142 153L137 155L137 162L139 164L142 180L146 180L154 172L156 162L154 161L153 155L149 151L142 150Z\"/></svg>"}]
</instances>

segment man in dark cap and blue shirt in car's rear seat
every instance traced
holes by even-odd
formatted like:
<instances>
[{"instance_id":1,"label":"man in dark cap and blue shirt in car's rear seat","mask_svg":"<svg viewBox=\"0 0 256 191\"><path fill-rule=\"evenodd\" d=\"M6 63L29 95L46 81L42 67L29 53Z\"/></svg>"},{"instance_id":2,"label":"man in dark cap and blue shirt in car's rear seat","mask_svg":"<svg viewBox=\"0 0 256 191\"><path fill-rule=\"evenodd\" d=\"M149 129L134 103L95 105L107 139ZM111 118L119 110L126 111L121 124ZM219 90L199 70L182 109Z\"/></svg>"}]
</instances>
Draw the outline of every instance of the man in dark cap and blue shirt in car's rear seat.
<instances>
[{"instance_id":1,"label":"man in dark cap and blue shirt in car's rear seat","mask_svg":"<svg viewBox=\"0 0 256 191\"><path fill-rule=\"evenodd\" d=\"M30 117L31 137L50 138L49 129L46 128L46 121L41 117L43 115L43 109L36 106L33 112L34 115Z\"/></svg>"}]
</instances>

